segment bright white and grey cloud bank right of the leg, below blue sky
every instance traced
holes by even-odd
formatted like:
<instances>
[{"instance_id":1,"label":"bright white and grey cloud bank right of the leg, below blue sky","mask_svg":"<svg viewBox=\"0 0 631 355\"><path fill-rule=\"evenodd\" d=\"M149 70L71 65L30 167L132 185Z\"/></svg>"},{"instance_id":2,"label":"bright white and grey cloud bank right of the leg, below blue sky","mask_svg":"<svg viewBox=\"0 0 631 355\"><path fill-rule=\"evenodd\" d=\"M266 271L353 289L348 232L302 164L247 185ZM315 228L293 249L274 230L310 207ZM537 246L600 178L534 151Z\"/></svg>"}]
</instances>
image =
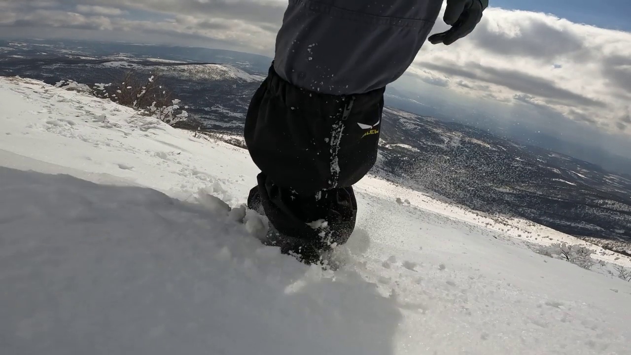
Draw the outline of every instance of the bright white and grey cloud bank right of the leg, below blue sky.
<instances>
[{"instance_id":1,"label":"bright white and grey cloud bank right of the leg, below blue sky","mask_svg":"<svg viewBox=\"0 0 631 355\"><path fill-rule=\"evenodd\" d=\"M426 44L413 67L442 73L459 92L545 106L610 131L631 102L631 33L543 13L489 8L469 37Z\"/></svg>"}]
</instances>

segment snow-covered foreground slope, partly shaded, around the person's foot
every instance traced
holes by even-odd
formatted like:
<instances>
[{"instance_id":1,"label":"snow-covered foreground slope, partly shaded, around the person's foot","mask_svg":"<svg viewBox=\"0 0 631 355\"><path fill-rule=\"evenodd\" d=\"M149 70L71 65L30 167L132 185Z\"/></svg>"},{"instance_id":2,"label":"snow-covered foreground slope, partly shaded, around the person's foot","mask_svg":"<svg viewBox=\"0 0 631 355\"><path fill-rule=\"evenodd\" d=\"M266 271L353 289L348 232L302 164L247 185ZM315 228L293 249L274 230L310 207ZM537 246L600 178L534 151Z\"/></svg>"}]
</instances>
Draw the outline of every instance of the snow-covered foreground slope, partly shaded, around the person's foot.
<instances>
[{"instance_id":1,"label":"snow-covered foreground slope, partly shaded, around the person's foot","mask_svg":"<svg viewBox=\"0 0 631 355\"><path fill-rule=\"evenodd\" d=\"M256 239L244 150L33 80L0 107L2 354L631 353L631 283L524 244L570 236L367 177L307 267Z\"/></svg>"}]
</instances>

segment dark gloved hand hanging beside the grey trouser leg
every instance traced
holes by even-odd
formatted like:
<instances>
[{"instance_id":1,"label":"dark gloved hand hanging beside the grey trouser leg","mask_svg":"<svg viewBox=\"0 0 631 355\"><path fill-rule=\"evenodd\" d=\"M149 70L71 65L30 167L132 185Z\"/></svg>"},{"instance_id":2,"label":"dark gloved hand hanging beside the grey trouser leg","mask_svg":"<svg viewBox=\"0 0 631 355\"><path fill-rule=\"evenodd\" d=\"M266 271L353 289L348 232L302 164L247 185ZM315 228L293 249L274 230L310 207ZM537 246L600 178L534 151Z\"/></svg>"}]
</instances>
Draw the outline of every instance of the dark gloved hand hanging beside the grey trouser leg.
<instances>
[{"instance_id":1,"label":"dark gloved hand hanging beside the grey trouser leg","mask_svg":"<svg viewBox=\"0 0 631 355\"><path fill-rule=\"evenodd\" d=\"M427 40L432 44L450 45L473 31L482 19L482 11L488 6L488 0L447 0L443 20L451 28L435 33Z\"/></svg>"}]
</instances>

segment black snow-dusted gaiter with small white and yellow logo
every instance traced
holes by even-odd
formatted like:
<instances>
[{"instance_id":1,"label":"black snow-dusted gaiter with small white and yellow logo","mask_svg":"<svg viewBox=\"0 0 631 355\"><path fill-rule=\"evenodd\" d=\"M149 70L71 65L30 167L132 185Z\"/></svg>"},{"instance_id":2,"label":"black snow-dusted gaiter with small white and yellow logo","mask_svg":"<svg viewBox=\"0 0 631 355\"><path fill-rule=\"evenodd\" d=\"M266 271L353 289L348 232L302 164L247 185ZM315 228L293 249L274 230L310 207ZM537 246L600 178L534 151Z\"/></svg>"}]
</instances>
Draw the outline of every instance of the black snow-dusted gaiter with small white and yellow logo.
<instances>
[{"instance_id":1,"label":"black snow-dusted gaiter with small white and yellow logo","mask_svg":"<svg viewBox=\"0 0 631 355\"><path fill-rule=\"evenodd\" d=\"M377 159L383 107L384 89L324 95L270 68L245 119L245 143L261 169L249 208L260 204L276 231L316 248L346 243L357 217L352 185Z\"/></svg>"}]
</instances>

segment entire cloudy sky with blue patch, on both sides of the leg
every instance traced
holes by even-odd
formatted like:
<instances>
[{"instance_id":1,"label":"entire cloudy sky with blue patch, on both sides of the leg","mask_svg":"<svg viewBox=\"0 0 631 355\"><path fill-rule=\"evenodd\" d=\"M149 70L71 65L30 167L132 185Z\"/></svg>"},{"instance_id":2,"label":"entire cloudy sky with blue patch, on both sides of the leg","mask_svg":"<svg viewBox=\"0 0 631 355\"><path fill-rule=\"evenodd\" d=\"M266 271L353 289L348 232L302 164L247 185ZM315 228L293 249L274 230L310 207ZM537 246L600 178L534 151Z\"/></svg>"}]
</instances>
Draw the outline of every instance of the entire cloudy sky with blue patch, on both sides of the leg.
<instances>
[{"instance_id":1,"label":"entire cloudy sky with blue patch, on both sides of the leg","mask_svg":"<svg viewBox=\"0 0 631 355\"><path fill-rule=\"evenodd\" d=\"M126 40L273 56L286 0L0 0L0 35ZM631 1L490 0L478 28L408 73L504 112L631 137ZM433 32L447 28L439 21ZM423 89L425 90L425 89ZM483 105L484 106L484 105ZM622 138L621 138L622 137Z\"/></svg>"}]
</instances>

